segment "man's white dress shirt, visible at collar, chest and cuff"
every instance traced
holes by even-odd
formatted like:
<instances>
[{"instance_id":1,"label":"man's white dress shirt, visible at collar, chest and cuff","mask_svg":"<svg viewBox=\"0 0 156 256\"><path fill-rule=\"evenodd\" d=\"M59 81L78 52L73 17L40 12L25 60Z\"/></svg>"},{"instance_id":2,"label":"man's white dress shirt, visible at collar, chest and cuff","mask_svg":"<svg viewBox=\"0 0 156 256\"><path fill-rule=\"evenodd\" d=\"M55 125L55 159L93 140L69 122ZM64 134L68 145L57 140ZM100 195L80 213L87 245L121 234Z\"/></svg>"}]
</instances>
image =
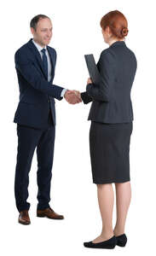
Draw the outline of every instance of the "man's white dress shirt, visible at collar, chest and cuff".
<instances>
[{"instance_id":1,"label":"man's white dress shirt, visible at collar, chest and cuff","mask_svg":"<svg viewBox=\"0 0 156 256\"><path fill-rule=\"evenodd\" d=\"M33 39L32 39L32 42L33 42L33 44L35 44L35 46L37 47L37 49L38 49L38 51L39 51L39 53L40 53L40 55L41 55L41 59L43 59L43 52L41 51L43 48L45 49L45 54L46 54L46 56L47 56L47 61L48 61L48 81L50 81L50 79L51 79L51 61L50 61L50 58L49 58L49 52L48 52L48 50L47 50L47 46L45 45L45 47L42 47L41 45L39 45L38 43L36 43ZM61 91L61 97L63 97L64 95L65 95L65 93L66 93L66 90L67 89L63 89L62 91Z\"/></svg>"}]
</instances>

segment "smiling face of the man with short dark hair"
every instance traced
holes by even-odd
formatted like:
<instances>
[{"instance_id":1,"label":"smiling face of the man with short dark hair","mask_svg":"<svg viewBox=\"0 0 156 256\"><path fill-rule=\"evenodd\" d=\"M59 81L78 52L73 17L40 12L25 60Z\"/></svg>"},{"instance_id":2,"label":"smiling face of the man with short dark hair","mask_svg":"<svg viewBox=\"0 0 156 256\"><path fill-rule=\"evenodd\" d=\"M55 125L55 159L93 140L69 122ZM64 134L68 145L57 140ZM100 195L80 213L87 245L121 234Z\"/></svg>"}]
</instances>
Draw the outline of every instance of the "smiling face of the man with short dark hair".
<instances>
[{"instance_id":1,"label":"smiling face of the man with short dark hair","mask_svg":"<svg viewBox=\"0 0 156 256\"><path fill-rule=\"evenodd\" d=\"M52 38L52 23L48 18L38 20L36 31L31 27L31 32L36 41L41 46L49 44L50 39Z\"/></svg>"}]
</instances>

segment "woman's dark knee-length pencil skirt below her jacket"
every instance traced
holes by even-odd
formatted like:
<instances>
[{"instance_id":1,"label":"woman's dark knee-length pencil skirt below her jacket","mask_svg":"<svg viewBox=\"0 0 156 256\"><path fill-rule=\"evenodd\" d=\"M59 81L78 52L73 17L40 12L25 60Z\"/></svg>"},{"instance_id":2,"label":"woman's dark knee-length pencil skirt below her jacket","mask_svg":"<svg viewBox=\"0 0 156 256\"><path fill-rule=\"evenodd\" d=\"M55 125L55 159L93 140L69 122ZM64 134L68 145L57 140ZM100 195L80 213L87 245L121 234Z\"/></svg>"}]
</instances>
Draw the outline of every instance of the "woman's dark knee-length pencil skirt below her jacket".
<instances>
[{"instance_id":1,"label":"woman's dark knee-length pencil skirt below her jacket","mask_svg":"<svg viewBox=\"0 0 156 256\"><path fill-rule=\"evenodd\" d=\"M133 122L107 124L91 121L90 161L93 183L130 181L130 136Z\"/></svg>"}]
</instances>

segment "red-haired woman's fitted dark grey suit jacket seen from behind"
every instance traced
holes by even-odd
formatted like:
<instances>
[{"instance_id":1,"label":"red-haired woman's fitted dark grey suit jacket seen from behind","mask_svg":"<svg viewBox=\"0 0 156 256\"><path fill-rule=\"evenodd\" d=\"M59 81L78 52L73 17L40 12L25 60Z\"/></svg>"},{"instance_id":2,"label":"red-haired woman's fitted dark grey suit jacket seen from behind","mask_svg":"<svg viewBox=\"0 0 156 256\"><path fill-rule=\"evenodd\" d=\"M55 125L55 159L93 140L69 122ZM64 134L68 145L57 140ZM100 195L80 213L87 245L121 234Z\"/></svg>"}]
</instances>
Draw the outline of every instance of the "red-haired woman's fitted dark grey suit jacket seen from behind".
<instances>
[{"instance_id":1,"label":"red-haired woman's fitted dark grey suit jacket seen from behind","mask_svg":"<svg viewBox=\"0 0 156 256\"><path fill-rule=\"evenodd\" d=\"M84 104L92 102L88 120L111 124L134 119L130 90L136 66L136 56L124 41L117 41L101 52L97 63L101 82L88 84L81 93Z\"/></svg>"}]
</instances>

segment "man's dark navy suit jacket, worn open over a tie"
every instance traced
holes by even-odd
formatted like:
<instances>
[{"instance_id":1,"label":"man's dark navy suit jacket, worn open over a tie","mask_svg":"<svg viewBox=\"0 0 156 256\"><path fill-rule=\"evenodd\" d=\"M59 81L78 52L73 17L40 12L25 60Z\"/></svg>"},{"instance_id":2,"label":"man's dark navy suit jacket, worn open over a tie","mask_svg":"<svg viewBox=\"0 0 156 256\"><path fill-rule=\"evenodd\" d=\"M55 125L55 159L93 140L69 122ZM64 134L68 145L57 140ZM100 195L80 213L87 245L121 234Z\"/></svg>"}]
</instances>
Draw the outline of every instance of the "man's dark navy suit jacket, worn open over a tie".
<instances>
[{"instance_id":1,"label":"man's dark navy suit jacket, worn open over a tie","mask_svg":"<svg viewBox=\"0 0 156 256\"><path fill-rule=\"evenodd\" d=\"M15 69L19 82L20 102L14 114L14 123L36 128L48 126L49 112L55 125L55 98L61 100L64 89L52 84L55 76L55 49L47 46L51 61L51 81L43 71L43 61L32 38L15 52Z\"/></svg>"}]
</instances>

